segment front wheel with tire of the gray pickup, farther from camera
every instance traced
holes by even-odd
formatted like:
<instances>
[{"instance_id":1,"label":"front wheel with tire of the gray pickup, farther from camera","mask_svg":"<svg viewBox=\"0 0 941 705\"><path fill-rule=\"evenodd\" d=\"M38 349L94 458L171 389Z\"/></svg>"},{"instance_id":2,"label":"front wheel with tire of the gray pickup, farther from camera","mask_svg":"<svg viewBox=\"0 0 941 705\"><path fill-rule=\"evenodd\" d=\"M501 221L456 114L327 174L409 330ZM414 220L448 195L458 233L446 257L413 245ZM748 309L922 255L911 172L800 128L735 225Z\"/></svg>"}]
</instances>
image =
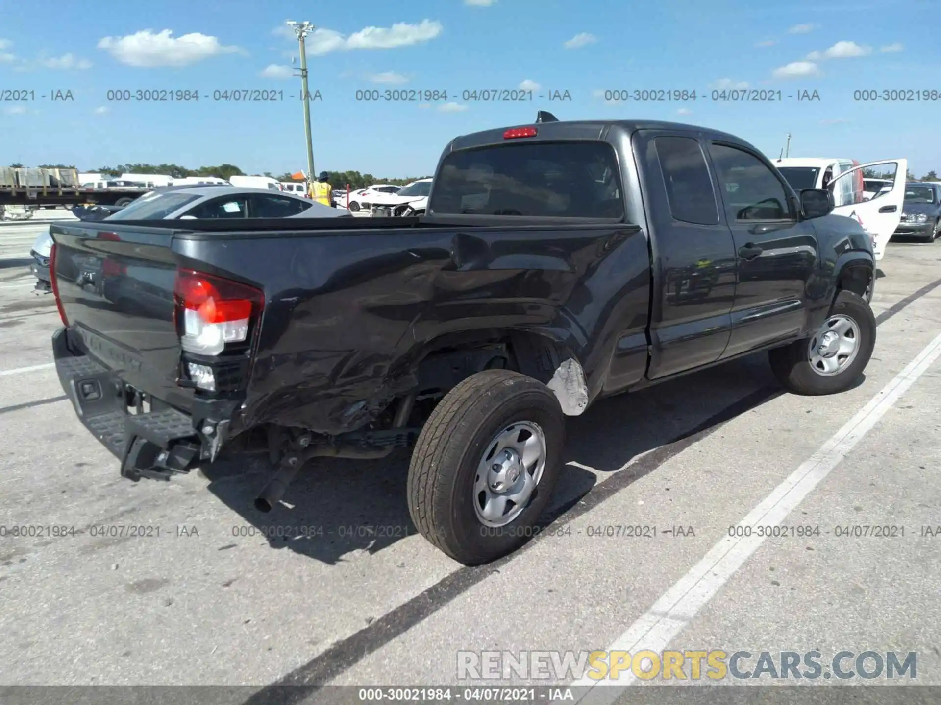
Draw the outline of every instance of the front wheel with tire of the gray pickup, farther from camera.
<instances>
[{"instance_id":1,"label":"front wheel with tire of the gray pickup, farther from camera","mask_svg":"<svg viewBox=\"0 0 941 705\"><path fill-rule=\"evenodd\" d=\"M837 394L849 389L869 364L876 319L866 301L840 291L826 321L811 337L769 351L774 376L789 391Z\"/></svg>"}]
</instances>

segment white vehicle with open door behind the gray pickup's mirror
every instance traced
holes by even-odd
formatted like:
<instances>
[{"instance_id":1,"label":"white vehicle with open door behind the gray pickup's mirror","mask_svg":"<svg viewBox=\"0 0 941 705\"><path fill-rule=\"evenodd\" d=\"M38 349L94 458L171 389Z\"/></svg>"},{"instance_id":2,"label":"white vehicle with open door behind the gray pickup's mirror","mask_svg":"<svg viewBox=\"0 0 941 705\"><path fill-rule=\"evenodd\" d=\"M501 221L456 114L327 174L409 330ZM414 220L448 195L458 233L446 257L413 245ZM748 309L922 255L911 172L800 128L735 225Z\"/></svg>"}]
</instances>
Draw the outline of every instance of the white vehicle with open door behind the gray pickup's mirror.
<instances>
[{"instance_id":1,"label":"white vehicle with open door behind the gray pickup's mirror","mask_svg":"<svg viewBox=\"0 0 941 705\"><path fill-rule=\"evenodd\" d=\"M885 245L901 222L907 159L857 164L852 159L791 157L776 159L773 164L798 193L801 189L829 189L836 204L833 212L853 218L865 227L872 238L876 260L883 258ZM866 193L863 174L869 170L883 174L895 172L894 177L887 180L891 188L884 188L875 195Z\"/></svg>"}]
</instances>

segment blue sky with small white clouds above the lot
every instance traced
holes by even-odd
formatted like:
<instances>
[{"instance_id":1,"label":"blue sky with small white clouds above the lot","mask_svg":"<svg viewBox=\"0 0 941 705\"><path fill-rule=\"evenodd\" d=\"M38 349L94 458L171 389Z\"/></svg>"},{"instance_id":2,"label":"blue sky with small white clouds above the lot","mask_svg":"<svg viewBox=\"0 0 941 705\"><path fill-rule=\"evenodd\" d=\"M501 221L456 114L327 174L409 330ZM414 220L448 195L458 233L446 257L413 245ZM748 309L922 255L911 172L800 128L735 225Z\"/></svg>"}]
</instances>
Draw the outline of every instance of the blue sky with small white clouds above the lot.
<instances>
[{"instance_id":1,"label":"blue sky with small white clouds above the lot","mask_svg":"<svg viewBox=\"0 0 941 705\"><path fill-rule=\"evenodd\" d=\"M941 172L941 100L857 102L858 89L941 92L941 0L0 0L3 157L11 164L228 162L247 173L306 168L292 75L310 21L314 164L375 176L431 173L462 133L561 119L657 118L735 133L776 157L907 157ZM464 100L516 89L532 102ZM525 84L528 86L529 84ZM713 102L719 87L781 90L783 102ZM283 101L215 101L216 90ZM116 102L108 90L198 90L199 102ZM365 102L357 91L447 91L447 100ZM606 102L604 91L695 90L696 101ZM52 101L71 90L71 102ZM798 102L798 91L819 101ZM550 101L550 92L570 100ZM539 96L543 96L542 99ZM46 96L46 98L42 98ZM8 96L0 95L0 98ZM680 112L686 111L686 112Z\"/></svg>"}]
</instances>

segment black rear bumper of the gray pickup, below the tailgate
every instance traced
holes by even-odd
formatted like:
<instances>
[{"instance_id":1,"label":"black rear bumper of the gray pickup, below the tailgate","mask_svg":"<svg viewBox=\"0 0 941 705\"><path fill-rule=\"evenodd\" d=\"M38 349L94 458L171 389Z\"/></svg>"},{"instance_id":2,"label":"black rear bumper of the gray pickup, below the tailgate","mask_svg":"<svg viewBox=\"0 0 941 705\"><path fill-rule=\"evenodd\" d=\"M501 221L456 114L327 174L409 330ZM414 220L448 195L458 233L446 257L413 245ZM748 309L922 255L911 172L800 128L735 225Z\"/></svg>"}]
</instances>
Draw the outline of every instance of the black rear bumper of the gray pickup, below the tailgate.
<instances>
[{"instance_id":1,"label":"black rear bumper of the gray pickup, below the tailgate","mask_svg":"<svg viewBox=\"0 0 941 705\"><path fill-rule=\"evenodd\" d=\"M113 370L75 351L68 329L58 329L53 356L59 383L82 425L120 460L122 476L135 481L169 479L215 456L228 424L214 441L197 430L193 415L159 399L146 399L147 410L146 394L131 390ZM140 403L135 406L136 401Z\"/></svg>"}]
</instances>

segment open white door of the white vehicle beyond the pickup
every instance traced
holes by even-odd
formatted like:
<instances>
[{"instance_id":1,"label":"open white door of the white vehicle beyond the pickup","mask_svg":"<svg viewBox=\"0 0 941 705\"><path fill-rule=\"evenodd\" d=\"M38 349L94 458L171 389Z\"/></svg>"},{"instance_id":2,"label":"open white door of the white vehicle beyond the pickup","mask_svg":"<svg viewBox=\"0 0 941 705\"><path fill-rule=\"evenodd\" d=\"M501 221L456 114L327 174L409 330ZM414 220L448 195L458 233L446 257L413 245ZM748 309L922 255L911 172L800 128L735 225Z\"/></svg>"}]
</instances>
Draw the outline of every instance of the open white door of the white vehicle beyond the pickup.
<instances>
[{"instance_id":1,"label":"open white door of the white vehicle beyond the pickup","mask_svg":"<svg viewBox=\"0 0 941 705\"><path fill-rule=\"evenodd\" d=\"M853 203L837 206L833 211L837 215L846 215L858 221L862 227L869 231L872 237L872 252L877 260L885 255L885 245L892 239L895 228L901 222L901 204L905 200L905 176L908 173L907 159L889 159L884 162L869 162L853 166L849 171L840 174L830 188L840 188L843 180L856 180L856 174L863 170L876 175L872 178L888 179L892 183L890 189L879 192L869 200L866 196L854 192ZM894 174L893 174L894 172ZM865 172L864 172L865 173ZM839 201L835 201L839 203Z\"/></svg>"}]
</instances>

